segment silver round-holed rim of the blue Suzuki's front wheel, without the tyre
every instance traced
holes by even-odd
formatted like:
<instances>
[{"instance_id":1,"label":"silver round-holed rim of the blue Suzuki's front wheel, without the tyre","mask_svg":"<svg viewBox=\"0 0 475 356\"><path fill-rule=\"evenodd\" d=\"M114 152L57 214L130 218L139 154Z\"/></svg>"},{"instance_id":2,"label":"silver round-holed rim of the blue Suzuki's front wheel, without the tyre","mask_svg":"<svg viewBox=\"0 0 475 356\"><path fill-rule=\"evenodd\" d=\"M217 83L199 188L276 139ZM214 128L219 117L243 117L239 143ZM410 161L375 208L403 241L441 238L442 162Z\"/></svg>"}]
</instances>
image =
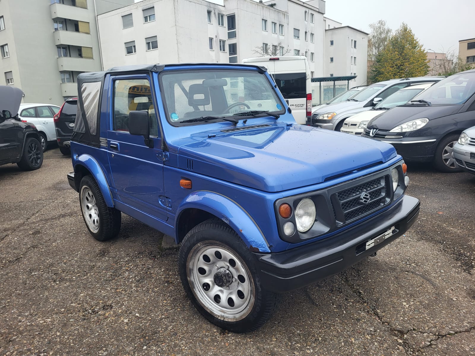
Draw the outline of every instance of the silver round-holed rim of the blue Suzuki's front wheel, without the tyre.
<instances>
[{"instance_id":1,"label":"silver round-holed rim of the blue Suzuki's front wheel, without the tyre","mask_svg":"<svg viewBox=\"0 0 475 356\"><path fill-rule=\"evenodd\" d=\"M203 241L193 246L187 276L199 304L218 319L244 319L254 306L251 273L239 255L224 244Z\"/></svg>"}]
</instances>

